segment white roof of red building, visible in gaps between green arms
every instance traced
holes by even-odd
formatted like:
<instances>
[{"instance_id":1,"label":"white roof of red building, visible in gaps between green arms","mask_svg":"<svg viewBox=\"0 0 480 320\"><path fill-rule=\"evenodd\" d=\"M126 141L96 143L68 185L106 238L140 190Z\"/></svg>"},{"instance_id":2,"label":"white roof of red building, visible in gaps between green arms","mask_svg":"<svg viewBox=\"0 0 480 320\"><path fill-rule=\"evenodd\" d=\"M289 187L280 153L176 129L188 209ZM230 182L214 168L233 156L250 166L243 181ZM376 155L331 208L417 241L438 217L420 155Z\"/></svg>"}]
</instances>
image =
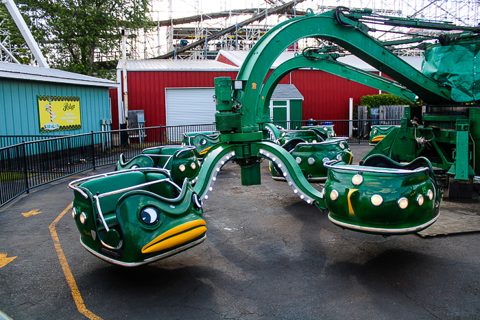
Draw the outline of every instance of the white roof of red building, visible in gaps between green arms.
<instances>
[{"instance_id":1,"label":"white roof of red building, visible in gaps between green arms","mask_svg":"<svg viewBox=\"0 0 480 320\"><path fill-rule=\"evenodd\" d=\"M224 56L231 62L237 64L237 66L241 67L243 64L243 61L248 56L248 53L250 51L248 50L220 50L219 53L217 54L217 58L219 56ZM270 69L276 69L277 66L282 64L283 62L293 58L295 56L296 52L293 51L283 51L280 53L280 56L276 58ZM413 66L413 68L417 70L422 70L422 58L421 57L400 57L402 58L405 62ZM378 71L376 70L373 66L370 66L367 62L361 60L360 58L357 58L356 56L350 55L350 56L344 56L341 58L337 59L339 62L343 62L344 64L348 64L350 66L355 66L355 68L362 69L363 71Z\"/></svg>"}]
</instances>

